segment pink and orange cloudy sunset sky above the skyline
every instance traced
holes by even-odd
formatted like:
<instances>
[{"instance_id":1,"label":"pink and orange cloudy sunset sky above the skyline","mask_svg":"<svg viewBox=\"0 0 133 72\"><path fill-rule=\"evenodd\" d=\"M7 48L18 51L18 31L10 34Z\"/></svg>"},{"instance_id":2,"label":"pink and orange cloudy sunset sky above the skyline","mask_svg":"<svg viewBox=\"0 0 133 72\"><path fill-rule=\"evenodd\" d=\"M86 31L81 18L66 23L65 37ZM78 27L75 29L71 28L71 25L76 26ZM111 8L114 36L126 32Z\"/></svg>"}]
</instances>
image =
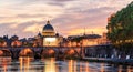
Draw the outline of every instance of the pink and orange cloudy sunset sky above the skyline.
<instances>
[{"instance_id":1,"label":"pink and orange cloudy sunset sky above the skyline","mask_svg":"<svg viewBox=\"0 0 133 72\"><path fill-rule=\"evenodd\" d=\"M29 38L42 31L47 20L66 37L106 32L106 18L132 0L0 0L0 35Z\"/></svg>"}]
</instances>

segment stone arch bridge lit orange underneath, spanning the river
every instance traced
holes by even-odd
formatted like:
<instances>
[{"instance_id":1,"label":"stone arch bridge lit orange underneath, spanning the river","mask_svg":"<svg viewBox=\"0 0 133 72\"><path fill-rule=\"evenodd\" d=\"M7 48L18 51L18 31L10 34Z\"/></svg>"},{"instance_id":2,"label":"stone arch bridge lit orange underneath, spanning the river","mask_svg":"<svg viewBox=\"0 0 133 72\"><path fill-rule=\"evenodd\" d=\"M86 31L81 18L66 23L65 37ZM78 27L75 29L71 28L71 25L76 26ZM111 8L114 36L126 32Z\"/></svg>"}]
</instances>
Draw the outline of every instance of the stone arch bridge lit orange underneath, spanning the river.
<instances>
[{"instance_id":1,"label":"stone arch bridge lit orange underneath, spanning the river","mask_svg":"<svg viewBox=\"0 0 133 72\"><path fill-rule=\"evenodd\" d=\"M81 48L0 48L0 56L11 56L11 59L19 59L19 56L33 56L34 59L41 59L53 54L54 56L76 55L81 56Z\"/></svg>"}]
</instances>

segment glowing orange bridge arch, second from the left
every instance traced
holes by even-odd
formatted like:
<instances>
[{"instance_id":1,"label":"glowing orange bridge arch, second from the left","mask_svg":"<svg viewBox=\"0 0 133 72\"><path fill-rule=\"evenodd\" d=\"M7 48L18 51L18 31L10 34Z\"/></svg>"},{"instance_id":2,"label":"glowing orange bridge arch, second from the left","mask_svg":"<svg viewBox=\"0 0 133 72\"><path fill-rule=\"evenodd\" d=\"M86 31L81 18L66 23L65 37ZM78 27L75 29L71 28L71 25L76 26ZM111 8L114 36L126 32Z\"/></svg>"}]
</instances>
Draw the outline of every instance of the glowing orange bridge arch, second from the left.
<instances>
[{"instance_id":1,"label":"glowing orange bridge arch, second from the left","mask_svg":"<svg viewBox=\"0 0 133 72\"><path fill-rule=\"evenodd\" d=\"M19 52L19 56L34 56L34 51L30 48L24 48Z\"/></svg>"}]
</instances>

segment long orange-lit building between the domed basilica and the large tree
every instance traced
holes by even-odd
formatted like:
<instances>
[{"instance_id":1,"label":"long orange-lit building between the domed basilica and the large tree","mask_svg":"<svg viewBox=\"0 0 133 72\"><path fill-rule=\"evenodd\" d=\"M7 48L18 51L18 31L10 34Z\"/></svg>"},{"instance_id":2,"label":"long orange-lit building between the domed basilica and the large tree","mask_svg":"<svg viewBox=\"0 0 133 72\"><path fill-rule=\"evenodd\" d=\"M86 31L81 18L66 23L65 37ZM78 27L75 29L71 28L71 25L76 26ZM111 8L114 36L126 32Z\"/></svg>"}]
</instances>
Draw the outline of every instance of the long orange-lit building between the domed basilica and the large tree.
<instances>
[{"instance_id":1,"label":"long orange-lit building between the domed basilica and the large tree","mask_svg":"<svg viewBox=\"0 0 133 72\"><path fill-rule=\"evenodd\" d=\"M65 40L64 47L91 47L91 45L101 45L110 44L110 41L106 38L106 33L103 35L99 34L83 34L83 35L70 35Z\"/></svg>"}]
</instances>

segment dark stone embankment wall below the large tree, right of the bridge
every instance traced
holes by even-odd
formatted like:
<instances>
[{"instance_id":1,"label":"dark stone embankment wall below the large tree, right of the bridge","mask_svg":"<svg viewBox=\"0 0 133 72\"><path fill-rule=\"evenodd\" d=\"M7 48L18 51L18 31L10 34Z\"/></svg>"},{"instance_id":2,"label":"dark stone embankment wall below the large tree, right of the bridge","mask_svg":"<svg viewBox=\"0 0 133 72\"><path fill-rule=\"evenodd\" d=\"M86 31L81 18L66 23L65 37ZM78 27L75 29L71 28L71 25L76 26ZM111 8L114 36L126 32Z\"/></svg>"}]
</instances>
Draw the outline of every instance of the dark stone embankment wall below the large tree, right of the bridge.
<instances>
[{"instance_id":1,"label":"dark stone embankment wall below the large tree, right of the bridge","mask_svg":"<svg viewBox=\"0 0 133 72\"><path fill-rule=\"evenodd\" d=\"M133 59L133 49L120 51L113 47L89 47L84 48L86 58L106 58L106 59Z\"/></svg>"}]
</instances>

